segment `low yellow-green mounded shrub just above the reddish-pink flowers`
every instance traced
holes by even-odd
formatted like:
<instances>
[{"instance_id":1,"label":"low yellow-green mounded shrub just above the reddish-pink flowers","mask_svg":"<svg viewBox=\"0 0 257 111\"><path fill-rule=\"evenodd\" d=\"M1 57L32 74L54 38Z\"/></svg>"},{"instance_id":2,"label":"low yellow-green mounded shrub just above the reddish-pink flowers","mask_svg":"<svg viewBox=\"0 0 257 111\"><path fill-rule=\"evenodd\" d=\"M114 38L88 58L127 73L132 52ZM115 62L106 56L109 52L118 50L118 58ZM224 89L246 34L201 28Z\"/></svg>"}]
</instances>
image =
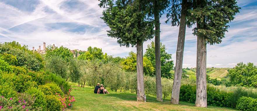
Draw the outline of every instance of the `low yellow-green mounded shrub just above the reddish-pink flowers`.
<instances>
[{"instance_id":1,"label":"low yellow-green mounded shrub just above the reddish-pink flowers","mask_svg":"<svg viewBox=\"0 0 257 111\"><path fill-rule=\"evenodd\" d=\"M41 85L38 89L44 92L44 94L46 95L55 95L56 93L60 95L64 94L60 87L55 83L47 83L45 85Z\"/></svg>"}]
</instances>

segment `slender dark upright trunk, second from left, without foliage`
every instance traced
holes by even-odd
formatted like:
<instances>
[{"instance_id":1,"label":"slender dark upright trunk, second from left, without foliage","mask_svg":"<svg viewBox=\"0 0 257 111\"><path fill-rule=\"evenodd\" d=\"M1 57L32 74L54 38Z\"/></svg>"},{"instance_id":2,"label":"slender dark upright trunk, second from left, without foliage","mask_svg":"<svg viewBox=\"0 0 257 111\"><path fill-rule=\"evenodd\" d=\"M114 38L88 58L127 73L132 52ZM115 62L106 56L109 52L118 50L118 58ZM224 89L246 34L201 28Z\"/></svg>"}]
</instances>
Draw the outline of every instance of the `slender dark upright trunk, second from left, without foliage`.
<instances>
[{"instance_id":1,"label":"slender dark upright trunk, second from left, without foliage","mask_svg":"<svg viewBox=\"0 0 257 111\"><path fill-rule=\"evenodd\" d=\"M161 77L161 52L160 52L160 18L158 1L154 0L154 25L155 25L155 79L156 99L162 100L162 77Z\"/></svg>"}]
</instances>

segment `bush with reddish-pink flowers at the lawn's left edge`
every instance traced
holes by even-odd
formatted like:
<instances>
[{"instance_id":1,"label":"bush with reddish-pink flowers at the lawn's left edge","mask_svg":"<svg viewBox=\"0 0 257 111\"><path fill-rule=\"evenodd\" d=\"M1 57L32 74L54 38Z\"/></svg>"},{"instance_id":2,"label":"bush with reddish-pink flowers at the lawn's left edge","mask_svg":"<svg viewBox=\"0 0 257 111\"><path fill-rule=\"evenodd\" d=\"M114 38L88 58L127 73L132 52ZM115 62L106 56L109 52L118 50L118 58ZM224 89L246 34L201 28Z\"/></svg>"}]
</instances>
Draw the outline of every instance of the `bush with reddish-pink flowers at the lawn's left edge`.
<instances>
[{"instance_id":1,"label":"bush with reddish-pink flowers at the lawn's left edge","mask_svg":"<svg viewBox=\"0 0 257 111\"><path fill-rule=\"evenodd\" d=\"M65 94L64 96L61 96L60 94L55 93L59 97L59 100L62 103L62 107L63 107L62 110L65 110L67 106L71 107L71 104L75 102L75 98L74 96L70 95L70 91L71 89L69 89L69 92L67 92L67 94Z\"/></svg>"}]
</instances>

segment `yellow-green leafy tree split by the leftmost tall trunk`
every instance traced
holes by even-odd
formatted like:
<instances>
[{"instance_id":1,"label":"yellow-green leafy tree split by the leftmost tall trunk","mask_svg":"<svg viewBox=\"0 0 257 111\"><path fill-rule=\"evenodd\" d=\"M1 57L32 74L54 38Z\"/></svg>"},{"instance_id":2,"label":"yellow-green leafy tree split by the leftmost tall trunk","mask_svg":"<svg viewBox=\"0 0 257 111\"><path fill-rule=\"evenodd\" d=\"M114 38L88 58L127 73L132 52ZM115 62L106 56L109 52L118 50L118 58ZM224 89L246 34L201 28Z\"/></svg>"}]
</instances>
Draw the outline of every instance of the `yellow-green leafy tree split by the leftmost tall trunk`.
<instances>
[{"instance_id":1,"label":"yellow-green leafy tree split by the leftmost tall trunk","mask_svg":"<svg viewBox=\"0 0 257 111\"><path fill-rule=\"evenodd\" d=\"M129 52L129 56L121 62L122 69L127 72L136 72L136 53ZM143 70L145 75L154 76L154 67L147 57L143 58Z\"/></svg>"}]
</instances>

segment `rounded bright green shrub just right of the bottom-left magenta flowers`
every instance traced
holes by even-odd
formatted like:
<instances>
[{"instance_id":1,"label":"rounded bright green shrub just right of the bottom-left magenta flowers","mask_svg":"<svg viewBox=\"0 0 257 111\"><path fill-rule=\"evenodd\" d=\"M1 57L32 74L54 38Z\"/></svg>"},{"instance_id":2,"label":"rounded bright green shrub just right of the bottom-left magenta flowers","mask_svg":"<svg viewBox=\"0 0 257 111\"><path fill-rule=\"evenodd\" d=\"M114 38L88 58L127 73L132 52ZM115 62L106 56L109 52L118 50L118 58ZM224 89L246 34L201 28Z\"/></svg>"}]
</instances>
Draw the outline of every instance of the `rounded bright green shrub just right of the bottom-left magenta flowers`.
<instances>
[{"instance_id":1,"label":"rounded bright green shrub just right of the bottom-left magenta flowers","mask_svg":"<svg viewBox=\"0 0 257 111\"><path fill-rule=\"evenodd\" d=\"M33 108L41 107L43 110L46 110L46 96L43 92L36 88L31 88L26 91L27 94L30 94L33 98L35 98L35 102L32 105ZM49 101L47 101L49 102Z\"/></svg>"}]
</instances>

